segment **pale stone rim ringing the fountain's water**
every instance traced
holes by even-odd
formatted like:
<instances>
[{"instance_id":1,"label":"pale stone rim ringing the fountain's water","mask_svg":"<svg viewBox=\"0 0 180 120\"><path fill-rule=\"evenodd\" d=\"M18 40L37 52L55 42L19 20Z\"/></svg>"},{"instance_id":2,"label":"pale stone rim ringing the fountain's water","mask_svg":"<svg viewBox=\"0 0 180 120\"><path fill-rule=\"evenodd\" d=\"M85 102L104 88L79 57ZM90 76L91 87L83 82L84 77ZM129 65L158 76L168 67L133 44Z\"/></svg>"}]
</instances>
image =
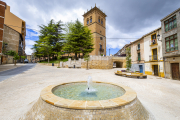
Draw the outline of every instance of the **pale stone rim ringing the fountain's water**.
<instances>
[{"instance_id":1,"label":"pale stone rim ringing the fountain's water","mask_svg":"<svg viewBox=\"0 0 180 120\"><path fill-rule=\"evenodd\" d=\"M77 82L70 82L70 83L79 83L79 82L87 82L87 81L77 81ZM109 99L109 100L99 100L99 101L82 101L82 100L70 100L58 97L52 93L53 88L59 85L69 84L69 83L62 83L58 85L50 85L44 88L41 91L40 97L45 102L52 104L57 107L64 107L64 108L71 108L71 109L107 109L107 108L114 108L119 106L124 106L133 102L137 98L137 94L131 88L121 85L115 84L110 82L99 82L93 81L94 83L107 83L119 86L125 90L125 94L118 98Z\"/></svg>"}]
</instances>

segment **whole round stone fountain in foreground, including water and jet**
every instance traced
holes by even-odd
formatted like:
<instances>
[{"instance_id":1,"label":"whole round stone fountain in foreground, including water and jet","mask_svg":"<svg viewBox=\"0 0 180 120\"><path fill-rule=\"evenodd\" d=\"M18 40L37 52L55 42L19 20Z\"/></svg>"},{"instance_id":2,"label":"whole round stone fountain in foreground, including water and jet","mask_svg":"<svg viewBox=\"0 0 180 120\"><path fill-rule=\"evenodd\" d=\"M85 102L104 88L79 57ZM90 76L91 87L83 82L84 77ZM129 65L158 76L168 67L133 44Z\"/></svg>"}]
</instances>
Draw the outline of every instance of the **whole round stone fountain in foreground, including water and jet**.
<instances>
[{"instance_id":1,"label":"whole round stone fountain in foreground, including water and jet","mask_svg":"<svg viewBox=\"0 0 180 120\"><path fill-rule=\"evenodd\" d=\"M131 88L98 81L50 85L21 119L153 120Z\"/></svg>"}]
</instances>

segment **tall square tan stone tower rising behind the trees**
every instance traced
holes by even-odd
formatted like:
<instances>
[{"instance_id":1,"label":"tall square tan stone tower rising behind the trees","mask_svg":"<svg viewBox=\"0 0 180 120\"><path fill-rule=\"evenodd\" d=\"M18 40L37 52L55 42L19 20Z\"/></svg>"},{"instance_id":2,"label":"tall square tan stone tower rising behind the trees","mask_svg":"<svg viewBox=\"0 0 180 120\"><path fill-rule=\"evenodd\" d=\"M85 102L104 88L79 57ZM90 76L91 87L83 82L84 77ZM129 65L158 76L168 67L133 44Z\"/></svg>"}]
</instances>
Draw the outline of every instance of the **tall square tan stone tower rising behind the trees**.
<instances>
[{"instance_id":1,"label":"tall square tan stone tower rising behind the trees","mask_svg":"<svg viewBox=\"0 0 180 120\"><path fill-rule=\"evenodd\" d=\"M99 8L91 8L84 13L84 26L88 26L93 35L94 50L90 55L106 55L106 17Z\"/></svg>"}]
</instances>

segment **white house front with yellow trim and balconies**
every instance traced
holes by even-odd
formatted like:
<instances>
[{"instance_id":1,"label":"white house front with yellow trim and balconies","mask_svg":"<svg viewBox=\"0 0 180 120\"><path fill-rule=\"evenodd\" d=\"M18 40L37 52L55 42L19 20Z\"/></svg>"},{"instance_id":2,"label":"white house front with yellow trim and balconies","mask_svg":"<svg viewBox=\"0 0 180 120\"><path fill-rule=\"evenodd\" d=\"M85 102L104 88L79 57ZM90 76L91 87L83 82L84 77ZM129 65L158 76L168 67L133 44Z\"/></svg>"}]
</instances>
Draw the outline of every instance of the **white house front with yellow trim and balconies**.
<instances>
[{"instance_id":1,"label":"white house front with yellow trim and balconies","mask_svg":"<svg viewBox=\"0 0 180 120\"><path fill-rule=\"evenodd\" d=\"M161 27L144 35L145 74L164 77L162 42L158 35L162 36Z\"/></svg>"}]
</instances>

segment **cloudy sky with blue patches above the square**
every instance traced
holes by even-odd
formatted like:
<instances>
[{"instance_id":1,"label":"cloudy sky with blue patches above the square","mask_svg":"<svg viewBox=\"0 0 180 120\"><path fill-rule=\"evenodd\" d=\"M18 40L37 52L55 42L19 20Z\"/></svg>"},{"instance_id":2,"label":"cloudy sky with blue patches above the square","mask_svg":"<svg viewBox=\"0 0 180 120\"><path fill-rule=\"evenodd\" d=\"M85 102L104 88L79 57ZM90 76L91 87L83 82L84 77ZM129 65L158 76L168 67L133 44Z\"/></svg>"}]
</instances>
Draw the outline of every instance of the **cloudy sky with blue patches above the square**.
<instances>
[{"instance_id":1,"label":"cloudy sky with blue patches above the square","mask_svg":"<svg viewBox=\"0 0 180 120\"><path fill-rule=\"evenodd\" d=\"M180 6L179 0L3 0L10 11L26 21L26 54L38 40L39 25L79 20L96 6L106 13L106 51L115 54L144 34L161 26L160 20ZM112 39L118 38L118 39ZM131 39L132 38L132 39Z\"/></svg>"}]
</instances>

